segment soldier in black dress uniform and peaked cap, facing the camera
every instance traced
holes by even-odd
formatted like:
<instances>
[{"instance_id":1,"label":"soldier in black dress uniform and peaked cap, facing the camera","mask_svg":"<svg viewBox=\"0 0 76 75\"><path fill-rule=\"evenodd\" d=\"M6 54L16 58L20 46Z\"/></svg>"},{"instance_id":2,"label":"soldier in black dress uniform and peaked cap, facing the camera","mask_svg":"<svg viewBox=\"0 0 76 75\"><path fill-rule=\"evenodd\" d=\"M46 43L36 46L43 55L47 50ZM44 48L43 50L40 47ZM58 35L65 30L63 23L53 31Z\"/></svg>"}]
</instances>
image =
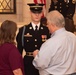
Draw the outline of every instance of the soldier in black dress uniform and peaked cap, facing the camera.
<instances>
[{"instance_id":1,"label":"soldier in black dress uniform and peaked cap, facing the camera","mask_svg":"<svg viewBox=\"0 0 76 75\"><path fill-rule=\"evenodd\" d=\"M38 70L33 66L33 52L39 50L42 43L50 38L49 30L40 23L44 4L28 4L32 22L24 25L19 29L17 35L17 47L22 54L23 49L26 51L24 56L24 67L26 75L39 75ZM36 27L36 29L35 29ZM40 61L41 62L41 61Z\"/></svg>"}]
</instances>

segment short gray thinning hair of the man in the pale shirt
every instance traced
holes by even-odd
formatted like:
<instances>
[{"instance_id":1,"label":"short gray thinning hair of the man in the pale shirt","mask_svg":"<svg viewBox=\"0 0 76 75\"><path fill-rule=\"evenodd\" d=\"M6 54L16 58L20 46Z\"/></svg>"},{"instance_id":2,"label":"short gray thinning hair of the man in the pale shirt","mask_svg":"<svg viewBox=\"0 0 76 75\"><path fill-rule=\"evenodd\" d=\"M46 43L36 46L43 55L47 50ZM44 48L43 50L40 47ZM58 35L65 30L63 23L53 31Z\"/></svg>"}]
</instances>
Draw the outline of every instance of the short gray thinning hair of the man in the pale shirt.
<instances>
[{"instance_id":1,"label":"short gray thinning hair of the man in the pale shirt","mask_svg":"<svg viewBox=\"0 0 76 75\"><path fill-rule=\"evenodd\" d=\"M47 14L47 21L56 25L57 27L64 27L65 26L65 19L63 15L58 12L57 10L50 11Z\"/></svg>"}]
</instances>

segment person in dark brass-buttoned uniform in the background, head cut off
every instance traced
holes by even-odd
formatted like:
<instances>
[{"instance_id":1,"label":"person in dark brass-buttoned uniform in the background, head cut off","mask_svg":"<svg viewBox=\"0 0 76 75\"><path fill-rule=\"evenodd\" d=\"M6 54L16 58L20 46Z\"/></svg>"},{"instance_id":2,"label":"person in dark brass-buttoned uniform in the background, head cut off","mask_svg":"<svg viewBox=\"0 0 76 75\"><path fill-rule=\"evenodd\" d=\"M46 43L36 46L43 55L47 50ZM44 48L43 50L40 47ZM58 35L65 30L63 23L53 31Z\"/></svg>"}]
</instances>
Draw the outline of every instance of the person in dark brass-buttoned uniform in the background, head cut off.
<instances>
[{"instance_id":1,"label":"person in dark brass-buttoned uniform in the background, head cut off","mask_svg":"<svg viewBox=\"0 0 76 75\"><path fill-rule=\"evenodd\" d=\"M65 28L74 32L75 26L73 16L75 13L74 0L51 0L49 11L58 10L65 17Z\"/></svg>"}]
</instances>

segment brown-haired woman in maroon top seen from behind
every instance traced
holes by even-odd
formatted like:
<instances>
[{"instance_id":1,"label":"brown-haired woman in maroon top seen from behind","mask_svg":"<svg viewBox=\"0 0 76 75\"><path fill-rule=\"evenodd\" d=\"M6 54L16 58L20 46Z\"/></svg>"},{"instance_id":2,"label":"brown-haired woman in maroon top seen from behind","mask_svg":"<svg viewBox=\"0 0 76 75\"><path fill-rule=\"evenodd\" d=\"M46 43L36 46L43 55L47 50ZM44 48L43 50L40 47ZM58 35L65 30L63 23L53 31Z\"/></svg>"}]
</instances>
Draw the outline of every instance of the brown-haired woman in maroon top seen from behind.
<instances>
[{"instance_id":1,"label":"brown-haired woman in maroon top seen from behind","mask_svg":"<svg viewBox=\"0 0 76 75\"><path fill-rule=\"evenodd\" d=\"M24 75L23 61L15 46L17 24L6 20L0 28L0 75Z\"/></svg>"}]
</instances>

